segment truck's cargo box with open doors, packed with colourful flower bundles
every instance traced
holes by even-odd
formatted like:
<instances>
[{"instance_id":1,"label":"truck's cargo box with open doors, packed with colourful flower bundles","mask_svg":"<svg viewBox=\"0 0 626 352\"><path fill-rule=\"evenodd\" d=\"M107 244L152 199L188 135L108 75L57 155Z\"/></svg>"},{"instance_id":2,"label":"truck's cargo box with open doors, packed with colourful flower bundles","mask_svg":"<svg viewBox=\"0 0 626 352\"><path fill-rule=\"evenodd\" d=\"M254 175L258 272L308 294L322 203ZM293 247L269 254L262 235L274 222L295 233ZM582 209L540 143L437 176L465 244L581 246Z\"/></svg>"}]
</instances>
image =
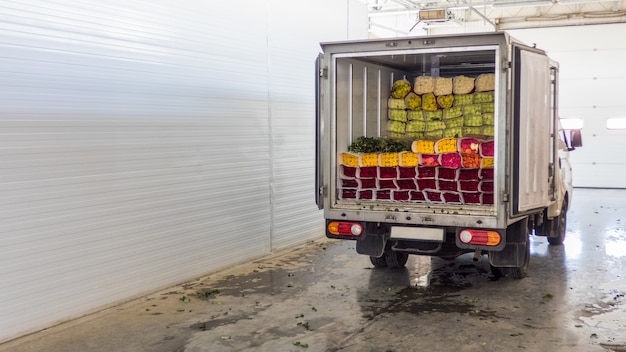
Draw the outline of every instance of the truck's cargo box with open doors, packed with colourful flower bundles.
<instances>
[{"instance_id":1,"label":"truck's cargo box with open doors, packed with colourful flower bundles","mask_svg":"<svg viewBox=\"0 0 626 352\"><path fill-rule=\"evenodd\" d=\"M545 131L554 125L552 75L543 52L516 44L504 33L325 43L322 48L327 78L320 85L326 93L321 105L325 120L320 123L326 141L320 142L320 157L330 159L325 166L336 166L322 181L331 213L359 209L380 213L381 220L389 208L454 213L466 216L439 218L505 227L508 217L499 214L515 215L550 202L553 150ZM510 65L518 70L509 72ZM411 90L394 98L394 82L401 80ZM411 96L421 98L422 105L402 105ZM451 105L442 106L445 99ZM515 133L507 134L507 129ZM380 159L393 155L350 152L359 137L434 144L448 138L457 148L441 152L431 147L427 153L421 151L428 147L414 147L407 152L421 153L404 153L398 162L384 164ZM412 175L412 167L417 177L405 178ZM509 200L514 207L507 209L503 205Z\"/></svg>"}]
</instances>

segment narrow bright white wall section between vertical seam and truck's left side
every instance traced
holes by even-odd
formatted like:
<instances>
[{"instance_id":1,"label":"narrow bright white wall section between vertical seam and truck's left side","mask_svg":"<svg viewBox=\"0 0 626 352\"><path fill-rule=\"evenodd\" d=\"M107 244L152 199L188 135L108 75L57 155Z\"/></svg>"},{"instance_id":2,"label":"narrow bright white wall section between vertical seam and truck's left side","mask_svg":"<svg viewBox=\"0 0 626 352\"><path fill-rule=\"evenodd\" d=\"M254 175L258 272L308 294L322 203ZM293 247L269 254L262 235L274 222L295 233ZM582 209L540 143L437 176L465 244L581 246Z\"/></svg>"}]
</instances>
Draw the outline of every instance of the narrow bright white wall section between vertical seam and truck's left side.
<instances>
[{"instance_id":1,"label":"narrow bright white wall section between vertical seam and truck's left side","mask_svg":"<svg viewBox=\"0 0 626 352\"><path fill-rule=\"evenodd\" d=\"M357 1L272 0L269 16L272 248L284 248L324 233L311 202L319 42L367 38L367 8Z\"/></svg>"}]
</instances>

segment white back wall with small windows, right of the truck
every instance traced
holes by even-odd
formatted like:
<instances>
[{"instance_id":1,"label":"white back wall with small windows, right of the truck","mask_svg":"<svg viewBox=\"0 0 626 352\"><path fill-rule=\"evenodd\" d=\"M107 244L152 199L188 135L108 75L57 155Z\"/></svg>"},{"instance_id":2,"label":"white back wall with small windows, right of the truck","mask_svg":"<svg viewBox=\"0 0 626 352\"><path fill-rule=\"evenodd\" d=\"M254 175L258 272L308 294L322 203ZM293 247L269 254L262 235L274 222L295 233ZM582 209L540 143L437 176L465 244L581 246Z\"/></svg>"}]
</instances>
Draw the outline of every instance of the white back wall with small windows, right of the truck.
<instances>
[{"instance_id":1,"label":"white back wall with small windows, right of the truck","mask_svg":"<svg viewBox=\"0 0 626 352\"><path fill-rule=\"evenodd\" d=\"M626 188L626 130L608 130L626 117L626 24L510 31L536 43L560 64L561 118L583 119L583 147L570 154L576 187Z\"/></svg>"}]
</instances>

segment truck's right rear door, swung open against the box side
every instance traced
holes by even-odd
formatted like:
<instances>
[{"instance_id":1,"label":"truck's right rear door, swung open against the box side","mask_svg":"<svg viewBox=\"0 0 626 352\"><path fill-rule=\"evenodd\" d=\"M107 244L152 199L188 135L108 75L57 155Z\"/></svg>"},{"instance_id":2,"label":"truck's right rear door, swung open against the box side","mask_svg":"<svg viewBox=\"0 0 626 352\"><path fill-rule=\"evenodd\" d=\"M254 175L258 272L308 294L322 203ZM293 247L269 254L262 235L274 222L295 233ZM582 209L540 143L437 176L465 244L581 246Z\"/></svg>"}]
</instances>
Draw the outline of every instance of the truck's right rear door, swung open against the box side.
<instances>
[{"instance_id":1,"label":"truck's right rear door, swung open against the box side","mask_svg":"<svg viewBox=\"0 0 626 352\"><path fill-rule=\"evenodd\" d=\"M532 212L550 202L552 73L542 51L515 44L512 62L512 209Z\"/></svg>"}]
</instances>

